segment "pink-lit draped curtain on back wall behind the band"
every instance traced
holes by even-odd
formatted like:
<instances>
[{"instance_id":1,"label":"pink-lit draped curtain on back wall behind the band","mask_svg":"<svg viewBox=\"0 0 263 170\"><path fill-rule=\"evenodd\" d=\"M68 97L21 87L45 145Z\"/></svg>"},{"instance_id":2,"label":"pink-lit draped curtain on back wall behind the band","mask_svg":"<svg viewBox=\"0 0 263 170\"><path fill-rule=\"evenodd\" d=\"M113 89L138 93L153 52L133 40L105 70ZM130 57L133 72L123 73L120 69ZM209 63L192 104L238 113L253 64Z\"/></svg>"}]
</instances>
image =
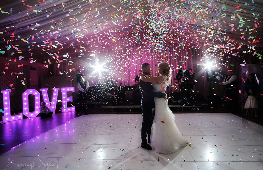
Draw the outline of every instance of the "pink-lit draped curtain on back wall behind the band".
<instances>
[{"instance_id":1,"label":"pink-lit draped curtain on back wall behind the band","mask_svg":"<svg viewBox=\"0 0 263 170\"><path fill-rule=\"evenodd\" d=\"M134 79L138 74L138 70L140 70L140 66L142 63L149 63L152 68L152 74L157 75L157 68L159 62L168 62L172 67L172 88L173 92L180 92L179 86L175 83L174 78L178 73L180 68L189 69L192 68L192 71L195 73L195 79L197 81L196 85L194 86L194 91L198 91L196 93L200 93L202 96L207 96L208 94L208 84L206 83L206 77L204 70L201 66L202 64L201 59L203 58L203 53L200 49L193 49L192 47L188 46L170 46L168 43L164 44L167 48L166 51L153 51L149 49L142 49L142 45L129 45L126 48L122 48L120 50L108 50L103 53L96 51L94 54L94 58L90 60L90 57L83 57L72 60L74 63L71 65L67 64L58 64L54 65L54 73L58 74L59 71L63 74L61 76L64 77L71 77L73 81L73 85L75 84L75 74L77 74L77 69L84 68L84 74L86 78L88 78L90 84L94 82L95 85L98 84L99 75L95 73L91 75L91 77L87 77L93 72L93 68L88 67L87 65L91 62L94 63L93 60L96 58L105 58L106 60L110 61L109 63L109 72L111 74L111 79L117 79L120 83L116 83L116 85L125 85L130 86L133 85ZM164 54L164 55L162 55ZM106 56L106 57L105 57ZM114 56L121 56L121 57L114 57ZM88 59L89 58L89 59ZM69 72L69 69L75 69ZM65 73L65 72L67 73ZM103 75L102 75L103 76ZM171 90L169 90L171 92ZM222 91L222 90L221 90Z\"/></svg>"}]
</instances>

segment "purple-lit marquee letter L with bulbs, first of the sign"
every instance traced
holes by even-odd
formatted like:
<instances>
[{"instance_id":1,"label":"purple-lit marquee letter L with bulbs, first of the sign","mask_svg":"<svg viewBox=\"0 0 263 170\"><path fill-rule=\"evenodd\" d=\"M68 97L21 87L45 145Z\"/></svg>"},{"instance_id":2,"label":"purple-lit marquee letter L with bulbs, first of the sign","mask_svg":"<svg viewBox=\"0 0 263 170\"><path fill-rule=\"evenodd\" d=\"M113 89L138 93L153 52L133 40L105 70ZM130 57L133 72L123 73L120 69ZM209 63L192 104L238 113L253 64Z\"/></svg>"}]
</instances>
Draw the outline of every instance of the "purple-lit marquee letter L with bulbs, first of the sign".
<instances>
[{"instance_id":1,"label":"purple-lit marquee letter L with bulbs, first of the sign","mask_svg":"<svg viewBox=\"0 0 263 170\"><path fill-rule=\"evenodd\" d=\"M14 121L18 119L23 119L23 115L20 113L18 115L11 116L11 109L10 109L10 90L3 90L1 93L3 93L3 106L4 106L4 116L3 116L3 122L7 121Z\"/></svg>"}]
</instances>

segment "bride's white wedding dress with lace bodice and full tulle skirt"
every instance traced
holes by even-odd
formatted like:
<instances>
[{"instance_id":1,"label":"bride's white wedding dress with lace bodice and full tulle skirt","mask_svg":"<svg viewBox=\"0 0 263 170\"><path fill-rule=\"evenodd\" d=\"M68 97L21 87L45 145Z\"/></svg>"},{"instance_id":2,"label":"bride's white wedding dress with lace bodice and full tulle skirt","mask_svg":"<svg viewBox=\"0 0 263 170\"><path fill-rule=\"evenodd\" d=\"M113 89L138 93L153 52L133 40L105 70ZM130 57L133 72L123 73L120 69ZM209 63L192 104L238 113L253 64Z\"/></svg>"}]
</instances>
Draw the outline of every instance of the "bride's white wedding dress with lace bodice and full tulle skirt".
<instances>
[{"instance_id":1,"label":"bride's white wedding dress with lace bodice and full tulle skirt","mask_svg":"<svg viewBox=\"0 0 263 170\"><path fill-rule=\"evenodd\" d=\"M165 92L167 80L161 84L153 83L154 91ZM151 146L157 153L171 154L186 146L188 140L183 137L177 125L175 116L168 107L168 100L154 98L155 116L151 131Z\"/></svg>"}]
</instances>

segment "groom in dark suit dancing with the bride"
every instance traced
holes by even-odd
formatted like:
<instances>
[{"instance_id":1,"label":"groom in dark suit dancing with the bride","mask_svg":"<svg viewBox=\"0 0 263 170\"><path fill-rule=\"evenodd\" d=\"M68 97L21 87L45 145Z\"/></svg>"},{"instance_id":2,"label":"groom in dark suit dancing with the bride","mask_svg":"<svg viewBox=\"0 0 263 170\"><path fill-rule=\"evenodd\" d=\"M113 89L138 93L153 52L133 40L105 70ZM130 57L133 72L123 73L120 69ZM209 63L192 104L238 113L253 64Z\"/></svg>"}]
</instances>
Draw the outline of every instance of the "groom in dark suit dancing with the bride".
<instances>
[{"instance_id":1,"label":"groom in dark suit dancing with the bride","mask_svg":"<svg viewBox=\"0 0 263 170\"><path fill-rule=\"evenodd\" d=\"M149 63L143 63L141 65L141 70L143 71L143 75L145 77L151 76L152 69ZM152 150L152 147L148 143L151 143L151 129L155 113L154 97L166 98L166 94L162 92L154 92L152 83L144 82L141 79L139 79L139 88L142 95L141 110L143 117L141 125L141 147ZM148 143L146 140L147 134Z\"/></svg>"}]
</instances>

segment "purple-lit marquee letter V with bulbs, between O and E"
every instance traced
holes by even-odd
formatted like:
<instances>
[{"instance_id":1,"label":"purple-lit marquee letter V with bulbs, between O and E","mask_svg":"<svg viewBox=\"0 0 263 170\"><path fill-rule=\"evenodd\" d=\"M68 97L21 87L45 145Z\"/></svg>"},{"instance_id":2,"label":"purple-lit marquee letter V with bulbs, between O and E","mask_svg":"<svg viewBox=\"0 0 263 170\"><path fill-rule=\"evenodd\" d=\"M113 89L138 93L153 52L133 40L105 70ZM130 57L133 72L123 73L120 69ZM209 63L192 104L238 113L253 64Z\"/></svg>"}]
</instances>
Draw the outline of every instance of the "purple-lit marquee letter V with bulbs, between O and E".
<instances>
[{"instance_id":1,"label":"purple-lit marquee letter V with bulbs, between O and E","mask_svg":"<svg viewBox=\"0 0 263 170\"><path fill-rule=\"evenodd\" d=\"M48 108L50 108L50 110L52 112L55 113L59 88L54 88L53 89L53 93L52 93L52 96L51 96L51 105L50 105L50 100L49 100L48 95L47 95L48 89L47 88L41 88L40 91L41 91L41 94L42 94L43 101L46 102L46 106Z\"/></svg>"}]
</instances>

